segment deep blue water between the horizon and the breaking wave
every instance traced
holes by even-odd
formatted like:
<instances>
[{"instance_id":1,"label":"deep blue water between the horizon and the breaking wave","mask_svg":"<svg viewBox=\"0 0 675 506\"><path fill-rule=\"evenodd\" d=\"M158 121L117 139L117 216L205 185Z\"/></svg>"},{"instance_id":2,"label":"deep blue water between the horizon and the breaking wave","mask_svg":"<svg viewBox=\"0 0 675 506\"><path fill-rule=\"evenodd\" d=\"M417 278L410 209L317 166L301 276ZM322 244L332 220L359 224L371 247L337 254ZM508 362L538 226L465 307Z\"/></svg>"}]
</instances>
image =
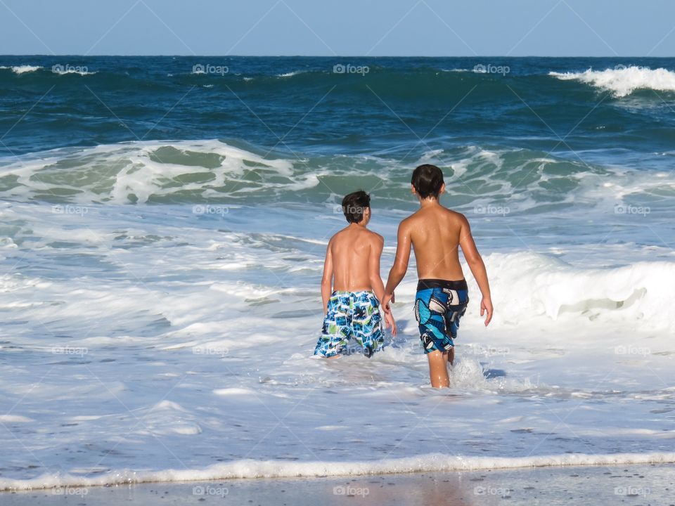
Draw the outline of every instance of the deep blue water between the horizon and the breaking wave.
<instances>
[{"instance_id":1,"label":"deep blue water between the horizon and the breaking wave","mask_svg":"<svg viewBox=\"0 0 675 506\"><path fill-rule=\"evenodd\" d=\"M19 65L42 68L18 74L11 67ZM92 74L58 74L53 65ZM195 65L217 73L195 74ZM368 72L335 73L335 65ZM508 73L473 72L476 65ZM282 153L414 159L478 144L657 163L650 157L675 143L675 93L618 97L548 75L617 65L673 72L675 58L3 56L0 155L219 138Z\"/></svg>"}]
</instances>

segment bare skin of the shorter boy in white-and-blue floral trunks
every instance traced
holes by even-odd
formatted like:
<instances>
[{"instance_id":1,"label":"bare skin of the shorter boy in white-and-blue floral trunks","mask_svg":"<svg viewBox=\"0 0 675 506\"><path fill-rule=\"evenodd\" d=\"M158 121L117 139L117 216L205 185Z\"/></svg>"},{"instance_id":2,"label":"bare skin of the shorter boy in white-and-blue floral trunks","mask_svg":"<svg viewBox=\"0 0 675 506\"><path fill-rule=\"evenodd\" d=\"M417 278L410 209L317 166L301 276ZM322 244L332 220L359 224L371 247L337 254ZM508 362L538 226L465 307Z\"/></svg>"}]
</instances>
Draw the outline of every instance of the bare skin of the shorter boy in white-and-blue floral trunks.
<instances>
[{"instance_id":1,"label":"bare skin of the shorter boy in white-and-blue floral trunks","mask_svg":"<svg viewBox=\"0 0 675 506\"><path fill-rule=\"evenodd\" d=\"M349 223L333 235L326 248L321 278L323 313L328 312L328 299L333 291L360 292L371 290L382 304L385 285L380 278L380 256L385 244L383 237L369 231L371 209L364 209L359 223ZM396 335L396 322L391 311L385 311L385 327ZM339 356L339 355L338 355Z\"/></svg>"}]
</instances>

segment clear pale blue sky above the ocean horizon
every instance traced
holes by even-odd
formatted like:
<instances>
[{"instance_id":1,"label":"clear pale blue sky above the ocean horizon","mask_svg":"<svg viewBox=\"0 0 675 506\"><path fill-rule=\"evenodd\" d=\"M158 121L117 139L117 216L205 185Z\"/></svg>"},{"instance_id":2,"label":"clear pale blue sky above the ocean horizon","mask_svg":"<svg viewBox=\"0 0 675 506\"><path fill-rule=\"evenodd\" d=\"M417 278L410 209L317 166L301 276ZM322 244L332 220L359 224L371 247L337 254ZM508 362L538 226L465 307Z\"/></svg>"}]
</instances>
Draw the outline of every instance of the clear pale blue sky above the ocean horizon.
<instances>
[{"instance_id":1,"label":"clear pale blue sky above the ocean horizon","mask_svg":"<svg viewBox=\"0 0 675 506\"><path fill-rule=\"evenodd\" d=\"M0 54L675 56L673 0L0 0Z\"/></svg>"}]
</instances>

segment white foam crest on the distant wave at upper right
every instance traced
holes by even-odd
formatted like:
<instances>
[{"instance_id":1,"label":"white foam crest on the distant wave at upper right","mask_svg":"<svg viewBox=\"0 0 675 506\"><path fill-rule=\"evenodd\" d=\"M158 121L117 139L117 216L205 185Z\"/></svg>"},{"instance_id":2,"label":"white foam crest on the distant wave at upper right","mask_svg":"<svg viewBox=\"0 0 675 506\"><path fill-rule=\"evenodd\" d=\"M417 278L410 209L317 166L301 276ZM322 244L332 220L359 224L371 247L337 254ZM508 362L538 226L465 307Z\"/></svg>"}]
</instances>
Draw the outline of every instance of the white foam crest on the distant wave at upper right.
<instances>
[{"instance_id":1,"label":"white foam crest on the distant wave at upper right","mask_svg":"<svg viewBox=\"0 0 675 506\"><path fill-rule=\"evenodd\" d=\"M628 96L638 89L675 91L675 72L664 68L615 67L606 70L589 69L585 72L549 72L558 79L574 79L611 91L617 97Z\"/></svg>"}]
</instances>

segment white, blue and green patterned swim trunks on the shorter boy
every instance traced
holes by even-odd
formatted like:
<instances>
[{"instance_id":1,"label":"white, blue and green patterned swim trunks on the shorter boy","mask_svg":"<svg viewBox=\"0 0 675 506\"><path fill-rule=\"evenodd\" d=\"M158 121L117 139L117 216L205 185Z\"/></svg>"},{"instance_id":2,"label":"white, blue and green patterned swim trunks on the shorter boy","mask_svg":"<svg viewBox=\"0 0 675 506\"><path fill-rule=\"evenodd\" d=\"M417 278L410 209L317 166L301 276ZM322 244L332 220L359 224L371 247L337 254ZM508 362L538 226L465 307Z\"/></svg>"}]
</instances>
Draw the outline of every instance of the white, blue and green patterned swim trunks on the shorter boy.
<instances>
[{"instance_id":1,"label":"white, blue and green patterned swim trunks on the shorter boy","mask_svg":"<svg viewBox=\"0 0 675 506\"><path fill-rule=\"evenodd\" d=\"M380 301L369 290L330 294L314 355L328 358L345 353L352 337L367 357L384 347Z\"/></svg>"}]
</instances>

